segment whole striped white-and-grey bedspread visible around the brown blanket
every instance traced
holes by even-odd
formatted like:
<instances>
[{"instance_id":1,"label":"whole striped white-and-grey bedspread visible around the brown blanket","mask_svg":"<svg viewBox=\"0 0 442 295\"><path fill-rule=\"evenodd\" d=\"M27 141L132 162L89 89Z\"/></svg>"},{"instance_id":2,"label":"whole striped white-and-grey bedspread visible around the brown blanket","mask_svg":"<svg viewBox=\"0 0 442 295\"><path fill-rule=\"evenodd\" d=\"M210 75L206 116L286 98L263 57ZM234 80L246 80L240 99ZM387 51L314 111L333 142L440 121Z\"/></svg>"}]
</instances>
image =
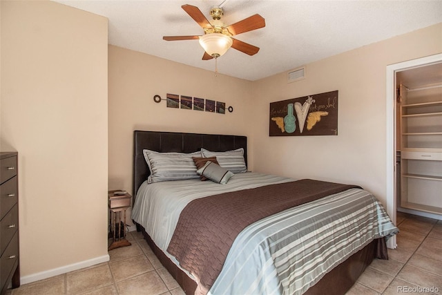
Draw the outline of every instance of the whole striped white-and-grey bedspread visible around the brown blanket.
<instances>
[{"instance_id":1,"label":"whole striped white-and-grey bedspread visible around the brown blanket","mask_svg":"<svg viewBox=\"0 0 442 295\"><path fill-rule=\"evenodd\" d=\"M224 185L210 180L205 182L179 180L153 184L144 182L138 190L132 218L146 229L157 247L160 247L164 254L180 267L177 260L166 249L182 209L191 200L227 191L252 189L290 181L293 179L249 172L236 174ZM358 211L352 211L353 209L349 209L350 203L361 208ZM342 207L341 209L336 209L338 204ZM329 212L334 210L337 210L334 213L336 227L335 225L332 227L329 222L324 222L324 218L331 215ZM344 211L347 212L341 213ZM315 220L315 218L311 219L313 216L316 218L315 222L311 221ZM311 237L308 239L305 233L302 233L302 222L307 222L308 227L311 227L309 229L311 234L308 234ZM298 230L286 230L293 226ZM397 231L381 203L369 192L363 189L350 189L330 195L269 216L244 229L233 243L222 272L213 287L204 291L209 291L209 295L302 294L325 272L365 247L374 238L388 237L396 234ZM329 240L327 244L330 247L323 248L324 245L315 242L317 241L315 236L321 233L326 233L320 239ZM275 244L276 240L278 242ZM344 242L347 240L348 244ZM281 245L282 248L280 248ZM315 254L315 258L309 263L315 263L315 266L307 269L308 271L298 269L297 272L301 275L294 276L294 267L303 259L302 257L307 257L305 255L308 254L308 252L303 254L296 247L309 249L314 248L313 246L318 247L316 249L318 254ZM336 258L329 260L327 256L330 253ZM292 257L294 255L299 255L299 257ZM284 263L278 263L278 261L284 261ZM247 271L244 272L244 269ZM253 272L253 269L256 272ZM185 269L183 271L186 272ZM191 276L188 272L186 273Z\"/></svg>"}]
</instances>

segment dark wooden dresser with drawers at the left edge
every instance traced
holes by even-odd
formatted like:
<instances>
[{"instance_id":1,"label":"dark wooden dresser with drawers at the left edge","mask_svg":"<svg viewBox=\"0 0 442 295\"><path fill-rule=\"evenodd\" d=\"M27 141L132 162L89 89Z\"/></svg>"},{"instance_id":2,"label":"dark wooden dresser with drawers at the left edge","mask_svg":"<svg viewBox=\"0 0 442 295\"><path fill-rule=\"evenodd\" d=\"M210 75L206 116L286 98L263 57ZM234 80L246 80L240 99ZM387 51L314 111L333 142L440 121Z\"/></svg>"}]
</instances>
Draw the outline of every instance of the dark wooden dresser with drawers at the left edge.
<instances>
[{"instance_id":1,"label":"dark wooden dresser with drawers at the left edge","mask_svg":"<svg viewBox=\"0 0 442 295\"><path fill-rule=\"evenodd\" d=\"M0 294L20 286L17 152L0 153Z\"/></svg>"}]
</instances>

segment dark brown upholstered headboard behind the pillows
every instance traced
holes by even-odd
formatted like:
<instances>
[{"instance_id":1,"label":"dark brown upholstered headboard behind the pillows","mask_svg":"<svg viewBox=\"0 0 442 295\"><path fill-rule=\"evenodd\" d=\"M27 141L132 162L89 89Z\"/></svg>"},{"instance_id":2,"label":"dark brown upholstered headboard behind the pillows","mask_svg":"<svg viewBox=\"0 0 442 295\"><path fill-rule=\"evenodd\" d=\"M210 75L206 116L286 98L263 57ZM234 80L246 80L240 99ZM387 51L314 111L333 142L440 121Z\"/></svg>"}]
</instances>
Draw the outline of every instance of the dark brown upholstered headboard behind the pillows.
<instances>
[{"instance_id":1,"label":"dark brown upholstered headboard behind the pillows","mask_svg":"<svg viewBox=\"0 0 442 295\"><path fill-rule=\"evenodd\" d=\"M193 153L201 148L209 151L229 151L244 148L247 165L247 137L199 133L134 131L133 133L133 197L147 179L150 171L144 160L143 149L152 151Z\"/></svg>"}]
</instances>

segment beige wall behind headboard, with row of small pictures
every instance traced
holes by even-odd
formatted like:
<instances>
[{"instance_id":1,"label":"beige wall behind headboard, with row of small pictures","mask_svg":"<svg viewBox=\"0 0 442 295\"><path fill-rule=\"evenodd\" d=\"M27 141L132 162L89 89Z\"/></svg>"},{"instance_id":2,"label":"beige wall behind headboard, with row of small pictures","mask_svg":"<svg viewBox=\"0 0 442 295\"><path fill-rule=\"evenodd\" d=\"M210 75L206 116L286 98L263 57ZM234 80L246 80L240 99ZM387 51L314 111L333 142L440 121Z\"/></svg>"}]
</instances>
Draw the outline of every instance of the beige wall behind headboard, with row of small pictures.
<instances>
[{"instance_id":1,"label":"beige wall behind headboard, with row of small pictures","mask_svg":"<svg viewBox=\"0 0 442 295\"><path fill-rule=\"evenodd\" d=\"M252 82L117 46L109 46L108 55L110 189L132 191L134 130L251 135ZM215 67L214 61L206 62ZM167 108L165 101L153 101L166 93L219 100L233 106L233 113Z\"/></svg>"}]
</instances>

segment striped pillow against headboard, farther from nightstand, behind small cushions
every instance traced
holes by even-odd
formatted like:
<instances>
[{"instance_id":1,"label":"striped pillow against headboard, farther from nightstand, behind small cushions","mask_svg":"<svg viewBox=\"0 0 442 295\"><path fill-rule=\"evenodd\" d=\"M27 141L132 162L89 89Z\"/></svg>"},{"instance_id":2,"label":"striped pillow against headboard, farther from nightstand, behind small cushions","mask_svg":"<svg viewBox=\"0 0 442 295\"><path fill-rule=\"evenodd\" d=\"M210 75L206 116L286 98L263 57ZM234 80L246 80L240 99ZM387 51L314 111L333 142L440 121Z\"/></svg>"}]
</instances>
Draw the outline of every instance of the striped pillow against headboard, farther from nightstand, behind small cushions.
<instances>
[{"instance_id":1,"label":"striped pillow against headboard, farther from nightstand, behind small cushions","mask_svg":"<svg viewBox=\"0 0 442 295\"><path fill-rule=\"evenodd\" d=\"M247 171L246 162L244 161L244 149L235 149L232 151L208 151L201 149L204 158L216 157L222 168L233 173L242 173Z\"/></svg>"}]
</instances>

